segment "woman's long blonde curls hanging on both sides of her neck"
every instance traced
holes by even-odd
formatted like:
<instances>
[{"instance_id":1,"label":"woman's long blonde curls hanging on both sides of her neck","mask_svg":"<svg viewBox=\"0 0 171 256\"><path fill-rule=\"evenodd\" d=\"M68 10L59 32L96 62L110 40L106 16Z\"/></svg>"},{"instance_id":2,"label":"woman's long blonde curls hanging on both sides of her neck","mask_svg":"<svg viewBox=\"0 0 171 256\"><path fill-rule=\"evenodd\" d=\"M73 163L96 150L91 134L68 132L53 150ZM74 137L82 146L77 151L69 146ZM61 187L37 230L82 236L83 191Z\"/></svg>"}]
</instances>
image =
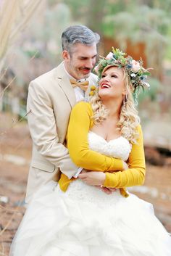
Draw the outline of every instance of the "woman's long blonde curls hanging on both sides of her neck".
<instances>
[{"instance_id":1,"label":"woman's long blonde curls hanging on both sides of her neck","mask_svg":"<svg viewBox=\"0 0 171 256\"><path fill-rule=\"evenodd\" d=\"M125 139L128 139L130 143L135 144L138 139L138 132L136 128L140 123L140 117L138 117L138 111L135 109L133 85L130 81L130 76L125 73L125 70L123 71L127 95L125 96L125 102L122 102L120 120L117 123L117 128ZM108 110L101 102L98 89L96 89L95 94L91 96L90 103L93 110L92 118L95 124L99 124L103 120L107 119Z\"/></svg>"}]
</instances>

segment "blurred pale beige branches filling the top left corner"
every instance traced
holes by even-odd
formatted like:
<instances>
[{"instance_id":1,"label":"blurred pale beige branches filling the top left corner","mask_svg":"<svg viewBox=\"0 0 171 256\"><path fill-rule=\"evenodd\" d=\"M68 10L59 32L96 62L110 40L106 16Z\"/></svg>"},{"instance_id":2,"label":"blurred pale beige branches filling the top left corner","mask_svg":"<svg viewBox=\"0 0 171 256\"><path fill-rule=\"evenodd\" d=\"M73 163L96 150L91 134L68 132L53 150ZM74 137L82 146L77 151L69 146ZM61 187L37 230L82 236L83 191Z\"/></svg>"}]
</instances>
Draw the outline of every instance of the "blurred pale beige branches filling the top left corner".
<instances>
[{"instance_id":1,"label":"blurred pale beige branches filling the top left corner","mask_svg":"<svg viewBox=\"0 0 171 256\"><path fill-rule=\"evenodd\" d=\"M1 1L0 8L0 71L5 54L14 39L24 30L41 0Z\"/></svg>"}]
</instances>

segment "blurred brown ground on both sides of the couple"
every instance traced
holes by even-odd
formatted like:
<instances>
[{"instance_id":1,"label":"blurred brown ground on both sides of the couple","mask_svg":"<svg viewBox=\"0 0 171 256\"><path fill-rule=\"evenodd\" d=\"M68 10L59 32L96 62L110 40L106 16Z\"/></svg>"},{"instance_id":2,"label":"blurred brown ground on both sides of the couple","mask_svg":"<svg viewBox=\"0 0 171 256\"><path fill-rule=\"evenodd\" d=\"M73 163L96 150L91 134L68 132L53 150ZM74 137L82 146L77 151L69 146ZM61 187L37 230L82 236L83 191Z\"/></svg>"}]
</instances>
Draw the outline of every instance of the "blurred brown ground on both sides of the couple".
<instances>
[{"instance_id":1,"label":"blurred brown ground on both sides of the couple","mask_svg":"<svg viewBox=\"0 0 171 256\"><path fill-rule=\"evenodd\" d=\"M14 233L25 212L23 206L28 168L31 157L31 139L26 123L13 120L9 128L7 115L0 114L0 255L8 255ZM157 154L155 149L146 148L146 154ZM149 165L146 168L144 186L131 189L141 199L154 205L157 218L171 232L171 165Z\"/></svg>"}]
</instances>

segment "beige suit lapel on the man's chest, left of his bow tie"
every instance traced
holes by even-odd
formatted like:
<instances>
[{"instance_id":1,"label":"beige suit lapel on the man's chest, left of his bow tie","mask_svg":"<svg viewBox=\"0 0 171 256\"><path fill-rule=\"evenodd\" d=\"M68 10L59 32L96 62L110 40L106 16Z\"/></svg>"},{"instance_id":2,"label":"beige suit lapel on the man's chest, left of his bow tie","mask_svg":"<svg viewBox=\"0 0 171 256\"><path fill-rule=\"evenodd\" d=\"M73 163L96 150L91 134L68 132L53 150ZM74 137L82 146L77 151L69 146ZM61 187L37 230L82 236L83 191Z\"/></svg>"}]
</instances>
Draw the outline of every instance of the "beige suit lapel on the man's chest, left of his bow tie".
<instances>
[{"instance_id":1,"label":"beige suit lapel on the man's chest, left of his bow tie","mask_svg":"<svg viewBox=\"0 0 171 256\"><path fill-rule=\"evenodd\" d=\"M67 74L64 71L63 62L57 67L57 80L59 86L64 91L71 108L76 104L75 91L70 85L70 80L67 78Z\"/></svg>"}]
</instances>

